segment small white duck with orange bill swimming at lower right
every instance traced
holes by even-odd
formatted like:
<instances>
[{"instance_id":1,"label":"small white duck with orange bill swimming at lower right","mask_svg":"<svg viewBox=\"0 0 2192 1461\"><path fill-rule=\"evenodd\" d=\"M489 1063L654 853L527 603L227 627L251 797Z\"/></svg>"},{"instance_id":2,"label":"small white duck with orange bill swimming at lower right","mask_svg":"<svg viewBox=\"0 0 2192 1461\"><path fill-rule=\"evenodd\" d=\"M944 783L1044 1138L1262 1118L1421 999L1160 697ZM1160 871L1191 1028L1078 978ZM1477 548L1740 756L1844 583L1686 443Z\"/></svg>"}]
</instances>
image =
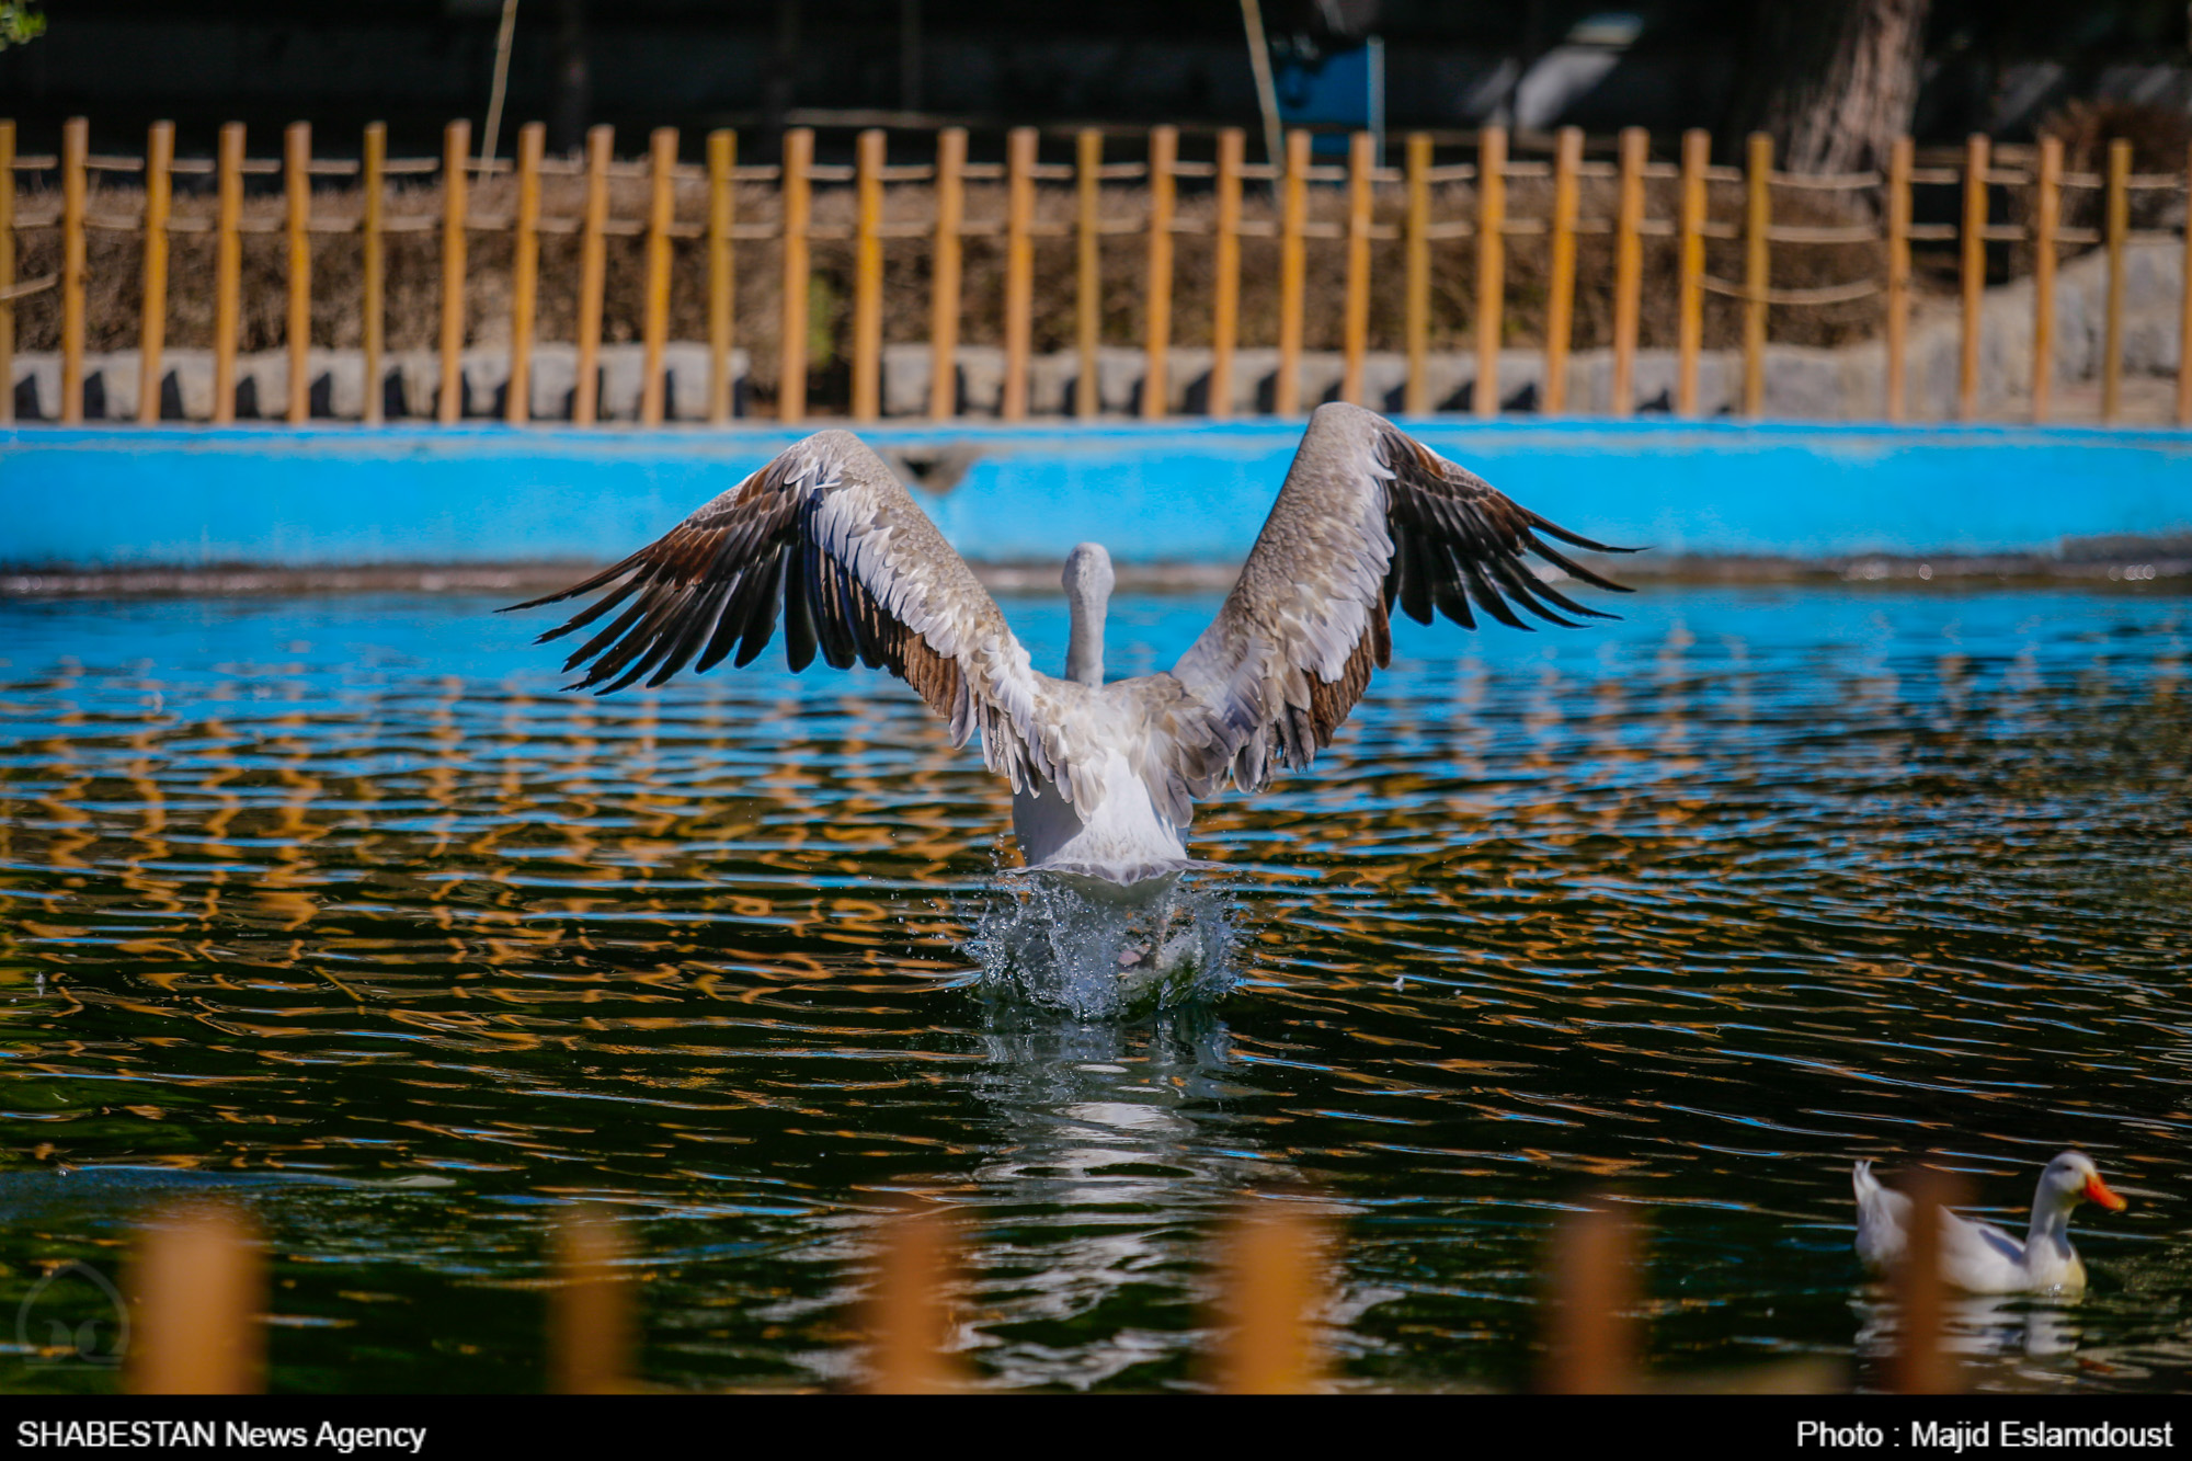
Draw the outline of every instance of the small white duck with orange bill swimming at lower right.
<instances>
[{"instance_id":1,"label":"small white duck with orange bill swimming at lower right","mask_svg":"<svg viewBox=\"0 0 2192 1461\"><path fill-rule=\"evenodd\" d=\"M1911 1200L1881 1187L1872 1163L1857 1163L1857 1257L1887 1270L1909 1250ZM2032 1226L2017 1242L1990 1222L1973 1222L1951 1211L1940 1215L1940 1277L1973 1294L2023 1294L2034 1290L2085 1290L2085 1264L2069 1246L2069 1211L2100 1202L2111 1213L2124 1200L2100 1180L2100 1167L2085 1152L2063 1152L2041 1171L2032 1193Z\"/></svg>"}]
</instances>

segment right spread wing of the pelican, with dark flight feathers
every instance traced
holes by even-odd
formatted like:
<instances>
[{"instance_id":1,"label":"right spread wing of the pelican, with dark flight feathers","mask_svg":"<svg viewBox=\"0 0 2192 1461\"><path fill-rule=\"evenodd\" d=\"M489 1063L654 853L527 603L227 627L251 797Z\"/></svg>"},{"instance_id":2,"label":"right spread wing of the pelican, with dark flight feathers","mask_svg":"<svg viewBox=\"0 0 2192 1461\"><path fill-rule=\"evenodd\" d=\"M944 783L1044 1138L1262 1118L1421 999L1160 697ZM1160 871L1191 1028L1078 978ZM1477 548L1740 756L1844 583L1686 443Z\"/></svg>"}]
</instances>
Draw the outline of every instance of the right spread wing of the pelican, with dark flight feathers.
<instances>
[{"instance_id":1,"label":"right spread wing of the pelican, with dark flight feathers","mask_svg":"<svg viewBox=\"0 0 2192 1461\"><path fill-rule=\"evenodd\" d=\"M1539 518L1370 410L1320 406L1241 579L1173 667L1210 711L1208 733L1175 750L1197 794L1228 770L1254 792L1276 768L1306 768L1392 658L1394 601L1416 623L1436 610L1462 627L1471 605L1517 630L1532 627L1517 610L1565 627L1563 614L1611 619L1530 570L1526 551L1629 592L1545 537L1629 553Z\"/></svg>"}]
</instances>

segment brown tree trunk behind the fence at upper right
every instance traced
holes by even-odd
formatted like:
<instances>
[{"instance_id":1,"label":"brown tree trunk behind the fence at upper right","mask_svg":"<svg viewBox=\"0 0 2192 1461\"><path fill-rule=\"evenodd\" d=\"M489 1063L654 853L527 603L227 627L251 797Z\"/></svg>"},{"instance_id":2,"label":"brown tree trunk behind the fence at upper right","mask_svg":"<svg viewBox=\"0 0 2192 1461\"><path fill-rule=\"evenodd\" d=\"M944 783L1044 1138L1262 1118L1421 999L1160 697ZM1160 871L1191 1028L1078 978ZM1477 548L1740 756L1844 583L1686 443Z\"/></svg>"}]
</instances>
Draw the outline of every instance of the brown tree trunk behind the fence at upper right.
<instances>
[{"instance_id":1,"label":"brown tree trunk behind the fence at upper right","mask_svg":"<svg viewBox=\"0 0 2192 1461\"><path fill-rule=\"evenodd\" d=\"M1767 132L1791 173L1887 167L1909 132L1931 0L1756 0L1732 136Z\"/></svg>"}]
</instances>

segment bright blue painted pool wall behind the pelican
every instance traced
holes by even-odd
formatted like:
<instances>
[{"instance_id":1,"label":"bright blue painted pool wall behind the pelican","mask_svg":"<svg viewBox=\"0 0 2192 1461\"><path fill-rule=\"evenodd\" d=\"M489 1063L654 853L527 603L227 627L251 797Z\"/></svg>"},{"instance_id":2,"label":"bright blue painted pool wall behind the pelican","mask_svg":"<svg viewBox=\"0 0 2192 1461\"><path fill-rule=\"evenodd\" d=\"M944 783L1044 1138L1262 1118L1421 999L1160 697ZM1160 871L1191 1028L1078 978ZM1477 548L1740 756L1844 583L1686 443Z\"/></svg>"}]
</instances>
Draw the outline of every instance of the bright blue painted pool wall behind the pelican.
<instances>
[{"instance_id":1,"label":"bright blue painted pool wall behind the pelican","mask_svg":"<svg viewBox=\"0 0 2192 1461\"><path fill-rule=\"evenodd\" d=\"M1666 553L2052 553L2192 531L2192 432L1675 421L1414 421L1528 507ZM4 566L607 559L802 432L563 428L0 430ZM1236 562L1300 421L888 426L978 452L916 494L971 559Z\"/></svg>"}]
</instances>

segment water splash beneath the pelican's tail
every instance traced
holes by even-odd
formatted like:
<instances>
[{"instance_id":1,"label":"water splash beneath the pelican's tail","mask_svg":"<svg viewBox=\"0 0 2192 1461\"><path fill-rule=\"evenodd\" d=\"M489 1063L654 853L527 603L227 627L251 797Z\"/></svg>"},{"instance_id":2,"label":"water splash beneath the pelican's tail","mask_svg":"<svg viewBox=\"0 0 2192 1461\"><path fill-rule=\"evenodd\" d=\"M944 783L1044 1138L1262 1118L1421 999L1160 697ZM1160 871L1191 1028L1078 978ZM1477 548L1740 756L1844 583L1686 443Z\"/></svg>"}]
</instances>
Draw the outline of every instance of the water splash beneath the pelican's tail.
<instances>
[{"instance_id":1,"label":"water splash beneath the pelican's tail","mask_svg":"<svg viewBox=\"0 0 2192 1461\"><path fill-rule=\"evenodd\" d=\"M1146 897L1032 873L995 888L967 941L982 987L1081 1020L1138 1018L1234 985L1234 899L1188 877Z\"/></svg>"}]
</instances>

